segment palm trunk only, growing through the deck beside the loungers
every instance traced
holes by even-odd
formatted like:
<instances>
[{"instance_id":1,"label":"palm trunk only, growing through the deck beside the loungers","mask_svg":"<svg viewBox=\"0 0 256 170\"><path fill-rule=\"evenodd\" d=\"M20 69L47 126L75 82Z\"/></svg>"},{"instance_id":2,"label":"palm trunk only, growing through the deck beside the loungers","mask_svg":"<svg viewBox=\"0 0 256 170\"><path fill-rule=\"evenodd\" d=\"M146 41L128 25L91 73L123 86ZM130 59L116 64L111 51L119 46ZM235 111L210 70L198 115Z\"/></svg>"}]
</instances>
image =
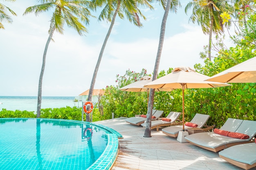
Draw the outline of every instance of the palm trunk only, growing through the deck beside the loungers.
<instances>
[{"instance_id":1,"label":"palm trunk only, growing through the deck beside the loungers","mask_svg":"<svg viewBox=\"0 0 256 170\"><path fill-rule=\"evenodd\" d=\"M170 7L171 7L171 0L168 0L167 4L166 4L166 9L164 11L164 17L163 17L163 20L162 20L162 25L161 25L159 44L158 44L158 50L157 50L157 57L155 59L155 68L154 68L154 72L153 72L152 81L157 79L158 68L159 68L162 48L163 48L163 44L164 44L164 33L165 33L166 20L167 20L167 17L168 17ZM144 137L151 137L151 117L152 117L152 110L153 110L153 105L154 105L154 94L155 94L155 89L150 89L149 101L148 101L147 120L146 120L146 129L145 129L145 132L144 132Z\"/></svg>"}]
</instances>

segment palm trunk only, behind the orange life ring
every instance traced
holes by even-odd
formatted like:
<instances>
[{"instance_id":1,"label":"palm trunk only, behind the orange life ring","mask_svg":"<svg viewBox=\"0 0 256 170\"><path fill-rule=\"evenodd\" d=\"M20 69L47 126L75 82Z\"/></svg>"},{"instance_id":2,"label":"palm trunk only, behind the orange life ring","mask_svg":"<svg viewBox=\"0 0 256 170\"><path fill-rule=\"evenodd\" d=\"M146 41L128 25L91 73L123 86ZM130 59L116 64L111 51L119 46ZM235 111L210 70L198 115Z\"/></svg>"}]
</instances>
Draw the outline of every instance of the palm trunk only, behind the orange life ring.
<instances>
[{"instance_id":1,"label":"palm trunk only, behind the orange life ring","mask_svg":"<svg viewBox=\"0 0 256 170\"><path fill-rule=\"evenodd\" d=\"M107 41L108 41L108 38L110 36L110 33L112 31L112 28L114 26L114 23L115 23L115 19L116 19L116 16L117 16L117 12L119 11L119 8L120 8L120 5L121 5L121 0L118 0L117 2L117 9L113 15L113 18L112 18L112 21L111 21L111 24L110 24L110 27L108 29L108 33L105 37L105 40L103 42L103 45L101 47L101 52L99 53L99 58L98 58L98 61L97 61L97 64L96 64L96 67L94 69L94 73L93 73L93 76L92 76L92 82L91 82L91 86L90 86L90 90L89 90L89 94L88 94L88 101L92 101L92 92L93 92L93 89L94 89L94 85L95 85L95 81L96 81L96 77L97 77L97 73L98 73L98 70L99 70L99 65L101 63L101 59L102 59L102 56L103 56L103 52L104 52L104 49L106 47L106 44L107 44ZM83 120L82 120L83 121ZM90 115L86 115L86 122L90 122Z\"/></svg>"}]
</instances>

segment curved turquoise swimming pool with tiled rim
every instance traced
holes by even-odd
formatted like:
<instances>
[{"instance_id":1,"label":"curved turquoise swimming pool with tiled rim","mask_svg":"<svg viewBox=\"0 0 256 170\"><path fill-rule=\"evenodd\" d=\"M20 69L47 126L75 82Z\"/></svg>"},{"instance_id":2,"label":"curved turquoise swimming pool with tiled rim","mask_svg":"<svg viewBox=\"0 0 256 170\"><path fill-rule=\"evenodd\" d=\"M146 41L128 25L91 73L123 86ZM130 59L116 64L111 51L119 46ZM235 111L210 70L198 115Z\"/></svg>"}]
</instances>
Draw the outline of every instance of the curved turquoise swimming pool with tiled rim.
<instances>
[{"instance_id":1,"label":"curved turquoise swimming pool with tiled rim","mask_svg":"<svg viewBox=\"0 0 256 170\"><path fill-rule=\"evenodd\" d=\"M116 131L56 119L0 119L0 169L104 169L118 152Z\"/></svg>"}]
</instances>

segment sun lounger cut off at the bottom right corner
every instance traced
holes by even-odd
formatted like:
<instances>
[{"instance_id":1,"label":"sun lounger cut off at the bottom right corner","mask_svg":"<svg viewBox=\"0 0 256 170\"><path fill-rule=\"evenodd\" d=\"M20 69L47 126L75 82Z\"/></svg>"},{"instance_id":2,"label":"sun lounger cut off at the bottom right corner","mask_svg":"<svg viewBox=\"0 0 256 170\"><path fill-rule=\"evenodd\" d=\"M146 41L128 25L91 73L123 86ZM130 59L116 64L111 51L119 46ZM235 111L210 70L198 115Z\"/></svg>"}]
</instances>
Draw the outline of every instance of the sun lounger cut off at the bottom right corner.
<instances>
[{"instance_id":1,"label":"sun lounger cut off at the bottom right corner","mask_svg":"<svg viewBox=\"0 0 256 170\"><path fill-rule=\"evenodd\" d=\"M231 146L220 151L219 155L229 163L249 170L256 166L256 143Z\"/></svg>"}]
</instances>

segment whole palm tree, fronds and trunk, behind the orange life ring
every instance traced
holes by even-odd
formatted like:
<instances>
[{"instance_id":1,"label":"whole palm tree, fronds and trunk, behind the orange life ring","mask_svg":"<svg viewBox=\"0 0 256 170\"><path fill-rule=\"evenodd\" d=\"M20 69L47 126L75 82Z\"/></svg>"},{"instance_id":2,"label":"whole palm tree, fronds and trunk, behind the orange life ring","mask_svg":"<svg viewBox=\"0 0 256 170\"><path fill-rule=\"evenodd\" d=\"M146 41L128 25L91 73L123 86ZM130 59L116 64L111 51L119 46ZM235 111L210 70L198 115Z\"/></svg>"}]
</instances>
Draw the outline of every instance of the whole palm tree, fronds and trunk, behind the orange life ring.
<instances>
[{"instance_id":1,"label":"whole palm tree, fronds and trunk, behind the orange life ring","mask_svg":"<svg viewBox=\"0 0 256 170\"><path fill-rule=\"evenodd\" d=\"M130 22L132 22L138 27L141 27L142 24L140 22L139 15L143 17L144 20L146 20L146 17L139 10L139 6L149 7L150 9L153 9L149 2L151 2L151 0L92 0L92 4L94 4L94 7L103 7L103 10L99 15L99 21L107 20L108 22L111 22L111 24L108 29L108 33L105 37L105 40L103 42L103 45L101 47L99 58L94 69L92 82L88 94L88 101L92 100L92 92L99 70L99 65L101 63L101 58L103 56L105 46L107 44L108 38L114 26L117 14L121 19L124 19L124 15L126 15ZM90 115L86 115L86 122L90 122Z\"/></svg>"}]
</instances>

